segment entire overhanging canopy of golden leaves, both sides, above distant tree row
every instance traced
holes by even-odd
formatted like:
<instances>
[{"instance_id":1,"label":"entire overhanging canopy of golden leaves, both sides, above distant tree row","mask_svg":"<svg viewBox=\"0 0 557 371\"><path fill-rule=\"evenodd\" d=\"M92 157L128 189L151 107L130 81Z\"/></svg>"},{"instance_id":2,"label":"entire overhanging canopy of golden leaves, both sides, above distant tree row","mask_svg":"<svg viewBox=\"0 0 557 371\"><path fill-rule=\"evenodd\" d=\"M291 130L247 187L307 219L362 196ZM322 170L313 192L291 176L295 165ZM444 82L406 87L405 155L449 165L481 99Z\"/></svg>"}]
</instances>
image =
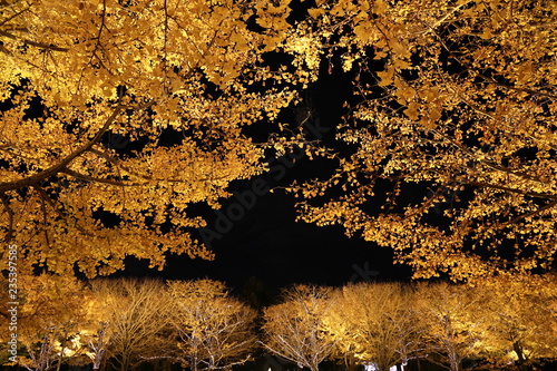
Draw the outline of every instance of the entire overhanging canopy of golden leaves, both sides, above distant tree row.
<instances>
[{"instance_id":1,"label":"entire overhanging canopy of golden leaves, both sides, above distant tree row","mask_svg":"<svg viewBox=\"0 0 557 371\"><path fill-rule=\"evenodd\" d=\"M56 272L110 273L128 254L158 267L166 251L209 257L188 234L204 221L187 205L218 207L231 182L263 172L265 145L245 126L276 120L336 56L355 91L339 139L355 149L330 179L301 187L306 198L343 193L304 204L302 218L392 247L417 276L547 269L556 7L335 0L290 21L289 1L3 2L0 85L25 87L3 96L13 107L1 114L0 227L28 267ZM271 68L266 52L291 65ZM33 97L42 115L28 113ZM163 149L168 127L183 138ZM140 149L102 148L109 133ZM426 197L404 198L412 188ZM383 209L370 211L377 203ZM178 227L165 234L165 224Z\"/></svg>"}]
</instances>

